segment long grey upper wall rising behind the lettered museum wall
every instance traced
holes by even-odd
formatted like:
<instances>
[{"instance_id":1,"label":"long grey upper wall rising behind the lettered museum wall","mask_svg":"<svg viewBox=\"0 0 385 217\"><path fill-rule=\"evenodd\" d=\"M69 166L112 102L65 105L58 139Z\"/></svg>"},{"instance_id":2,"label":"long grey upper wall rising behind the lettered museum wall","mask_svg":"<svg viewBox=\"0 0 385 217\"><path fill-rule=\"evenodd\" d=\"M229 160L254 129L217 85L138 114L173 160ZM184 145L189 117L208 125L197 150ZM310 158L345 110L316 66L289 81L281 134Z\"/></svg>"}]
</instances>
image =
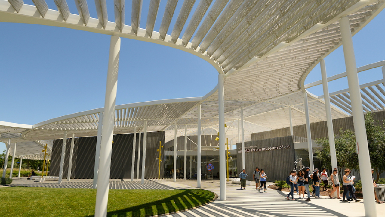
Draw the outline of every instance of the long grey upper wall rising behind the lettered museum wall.
<instances>
[{"instance_id":1,"label":"long grey upper wall rising behind the lettered museum wall","mask_svg":"<svg viewBox=\"0 0 385 217\"><path fill-rule=\"evenodd\" d=\"M379 125L383 125L385 119L385 111L373 112L374 120L378 120ZM353 117L344 117L333 120L333 131L334 134L339 134L338 131L342 129L354 130ZM320 139L328 137L328 127L326 121L316 122L310 124L311 139ZM307 138L306 124L293 126L293 135ZM275 137L290 136L290 127L276 129L266 132L258 132L251 134L251 140L270 139Z\"/></svg>"}]
</instances>

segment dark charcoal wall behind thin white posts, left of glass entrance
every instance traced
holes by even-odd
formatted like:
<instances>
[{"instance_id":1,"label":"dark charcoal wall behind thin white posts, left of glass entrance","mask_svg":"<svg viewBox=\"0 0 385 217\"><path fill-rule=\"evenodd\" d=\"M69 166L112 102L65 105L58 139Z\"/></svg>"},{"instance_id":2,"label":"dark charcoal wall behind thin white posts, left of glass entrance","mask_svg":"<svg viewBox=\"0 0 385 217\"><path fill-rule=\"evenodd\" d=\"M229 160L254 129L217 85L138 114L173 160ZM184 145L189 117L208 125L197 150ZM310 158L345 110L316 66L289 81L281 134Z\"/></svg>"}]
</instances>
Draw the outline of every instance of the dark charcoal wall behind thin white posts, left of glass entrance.
<instances>
[{"instance_id":1,"label":"dark charcoal wall behind thin white posts, left of glass entrance","mask_svg":"<svg viewBox=\"0 0 385 217\"><path fill-rule=\"evenodd\" d=\"M140 141L140 162L139 162L139 178L142 174L142 154L143 154L143 134ZM131 178L131 165L132 165L132 145L134 134L119 134L114 135L112 145L112 158L111 158L111 172L110 178ZM80 137L75 138L74 154L72 157L72 171L71 178L94 178L94 166L95 166L95 149L96 149L97 137ZM147 145L146 145L146 174L145 178L158 177L159 162L157 157L159 153L159 141L164 143L164 131L160 132L147 132ZM60 156L62 152L63 139L54 140L52 150L52 160L50 174L52 176L59 176ZM67 178L69 154L70 154L71 139L67 139L67 145L65 150L64 159L64 173L63 178ZM137 159L139 146L139 134L136 134L136 151L135 151L135 170L134 178L137 173ZM164 148L161 149L162 156L164 156ZM161 178L163 176L164 164L161 164Z\"/></svg>"}]
</instances>

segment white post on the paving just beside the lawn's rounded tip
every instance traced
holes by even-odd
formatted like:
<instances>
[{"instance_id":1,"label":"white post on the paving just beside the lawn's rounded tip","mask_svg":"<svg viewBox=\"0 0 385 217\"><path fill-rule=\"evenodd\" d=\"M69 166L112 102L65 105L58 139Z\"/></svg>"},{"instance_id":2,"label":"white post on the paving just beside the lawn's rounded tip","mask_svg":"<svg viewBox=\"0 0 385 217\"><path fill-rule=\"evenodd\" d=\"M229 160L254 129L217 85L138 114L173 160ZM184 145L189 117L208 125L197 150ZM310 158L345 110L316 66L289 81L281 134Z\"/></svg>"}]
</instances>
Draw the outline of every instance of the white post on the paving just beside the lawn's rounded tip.
<instances>
[{"instance_id":1,"label":"white post on the paving just beside the lawn's rounded tip","mask_svg":"<svg viewBox=\"0 0 385 217\"><path fill-rule=\"evenodd\" d=\"M218 75L219 104L219 197L226 200L226 132L224 130L224 74Z\"/></svg>"}]
</instances>

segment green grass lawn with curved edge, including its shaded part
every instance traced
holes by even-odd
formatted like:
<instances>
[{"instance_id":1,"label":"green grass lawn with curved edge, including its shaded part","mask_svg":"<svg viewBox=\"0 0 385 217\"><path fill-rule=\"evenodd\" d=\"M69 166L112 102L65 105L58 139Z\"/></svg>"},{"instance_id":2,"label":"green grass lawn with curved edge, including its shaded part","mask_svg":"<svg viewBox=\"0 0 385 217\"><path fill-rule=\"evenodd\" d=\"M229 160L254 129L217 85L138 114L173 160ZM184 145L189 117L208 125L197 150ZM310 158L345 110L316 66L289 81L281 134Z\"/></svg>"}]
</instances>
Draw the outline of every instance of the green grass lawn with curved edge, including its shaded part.
<instances>
[{"instance_id":1,"label":"green grass lawn with curved edge, including its shaded part","mask_svg":"<svg viewBox=\"0 0 385 217\"><path fill-rule=\"evenodd\" d=\"M95 189L0 188L2 216L94 216ZM151 216L207 203L214 193L192 190L109 190L107 216Z\"/></svg>"}]
</instances>

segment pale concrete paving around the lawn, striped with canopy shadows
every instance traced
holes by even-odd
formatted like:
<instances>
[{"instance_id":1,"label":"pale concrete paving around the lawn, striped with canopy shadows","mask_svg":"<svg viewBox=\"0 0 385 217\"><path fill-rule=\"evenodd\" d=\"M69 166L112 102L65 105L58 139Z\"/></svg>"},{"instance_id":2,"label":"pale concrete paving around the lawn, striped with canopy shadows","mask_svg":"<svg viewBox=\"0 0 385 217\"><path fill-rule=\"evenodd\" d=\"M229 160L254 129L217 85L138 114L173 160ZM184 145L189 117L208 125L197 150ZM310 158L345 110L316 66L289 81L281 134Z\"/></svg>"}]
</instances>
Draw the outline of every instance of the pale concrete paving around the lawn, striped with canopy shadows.
<instances>
[{"instance_id":1,"label":"pale concrete paving around the lawn, striped with canopy shadows","mask_svg":"<svg viewBox=\"0 0 385 217\"><path fill-rule=\"evenodd\" d=\"M268 182L267 185L273 183ZM13 186L33 186L50 188L92 188L92 179L72 179L58 184L57 181L38 183L27 180L25 177L14 178ZM141 180L134 179L111 179L110 189L191 189L196 188L196 180L178 179L176 183L172 179L147 179L144 185ZM203 180L201 188L215 192L219 195L219 180ZM310 202L297 199L297 201L286 200L287 192L267 189L266 193L255 190L255 185L246 186L246 190L240 190L239 185L226 183L227 199L225 201L215 200L208 205L197 209L179 212L171 216L177 217L231 217L231 216L259 216L259 217L284 217L284 216L338 216L338 217L363 217L365 216L363 201L341 202L331 198L311 198ZM385 205L377 204L378 216L385 213Z\"/></svg>"}]
</instances>

